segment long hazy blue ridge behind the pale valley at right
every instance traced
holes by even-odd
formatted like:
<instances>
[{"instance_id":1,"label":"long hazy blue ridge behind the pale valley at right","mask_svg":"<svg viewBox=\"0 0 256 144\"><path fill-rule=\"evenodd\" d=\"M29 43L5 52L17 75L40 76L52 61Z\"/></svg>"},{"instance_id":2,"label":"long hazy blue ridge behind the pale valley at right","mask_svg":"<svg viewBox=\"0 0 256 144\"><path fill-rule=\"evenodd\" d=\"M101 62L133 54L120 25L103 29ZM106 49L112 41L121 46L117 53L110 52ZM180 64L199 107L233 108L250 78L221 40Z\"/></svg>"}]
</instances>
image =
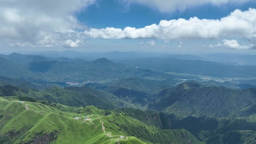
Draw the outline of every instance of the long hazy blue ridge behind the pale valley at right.
<instances>
[{"instance_id":1,"label":"long hazy blue ridge behind the pale valley at right","mask_svg":"<svg viewBox=\"0 0 256 144\"><path fill-rule=\"evenodd\" d=\"M153 71L194 74L211 77L256 77L256 65L226 65L200 60L146 58L116 61Z\"/></svg>"}]
</instances>

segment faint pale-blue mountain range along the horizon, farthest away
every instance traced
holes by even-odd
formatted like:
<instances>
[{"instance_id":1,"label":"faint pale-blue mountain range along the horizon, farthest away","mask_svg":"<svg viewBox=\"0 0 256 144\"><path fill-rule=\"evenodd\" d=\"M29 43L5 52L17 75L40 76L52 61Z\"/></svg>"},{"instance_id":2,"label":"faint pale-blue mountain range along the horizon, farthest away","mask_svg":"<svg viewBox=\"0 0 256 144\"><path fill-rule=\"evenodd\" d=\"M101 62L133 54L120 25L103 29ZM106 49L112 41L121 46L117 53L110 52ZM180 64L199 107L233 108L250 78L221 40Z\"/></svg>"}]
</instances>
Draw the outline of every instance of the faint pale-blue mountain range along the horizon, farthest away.
<instances>
[{"instance_id":1,"label":"faint pale-blue mountain range along the horizon, farthest away","mask_svg":"<svg viewBox=\"0 0 256 144\"><path fill-rule=\"evenodd\" d=\"M167 53L150 53L150 52L106 52L106 53L88 53L88 52L76 52L73 50L67 50L63 52L57 51L45 51L45 52L16 52L21 54L39 55L52 58L66 57L71 59L85 59L92 61L98 58L107 58L111 60L131 60L141 58L173 58L180 60L202 60L202 61L214 61L220 63L239 64L239 65L256 65L256 55L246 55L238 53L211 53L206 55L180 55L180 54L167 54Z\"/></svg>"}]
</instances>

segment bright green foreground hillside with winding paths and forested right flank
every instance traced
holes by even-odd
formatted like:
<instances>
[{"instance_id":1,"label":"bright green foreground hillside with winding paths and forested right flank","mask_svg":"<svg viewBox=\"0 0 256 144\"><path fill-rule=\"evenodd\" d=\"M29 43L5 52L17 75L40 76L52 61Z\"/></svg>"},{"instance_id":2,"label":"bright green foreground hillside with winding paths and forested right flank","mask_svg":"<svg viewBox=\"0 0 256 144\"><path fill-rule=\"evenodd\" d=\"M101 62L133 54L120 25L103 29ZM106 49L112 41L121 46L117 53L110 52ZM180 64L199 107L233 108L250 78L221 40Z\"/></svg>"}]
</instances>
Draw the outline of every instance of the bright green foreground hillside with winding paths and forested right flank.
<instances>
[{"instance_id":1,"label":"bright green foreground hillside with winding paths and forested right flank","mask_svg":"<svg viewBox=\"0 0 256 144\"><path fill-rule=\"evenodd\" d=\"M90 113L86 113L88 110ZM150 144L151 141L155 144L201 143L184 129L164 132L124 113L106 115L101 114L100 111L105 110L90 106L81 110L80 114L76 114L38 102L1 97L0 143Z\"/></svg>"}]
</instances>

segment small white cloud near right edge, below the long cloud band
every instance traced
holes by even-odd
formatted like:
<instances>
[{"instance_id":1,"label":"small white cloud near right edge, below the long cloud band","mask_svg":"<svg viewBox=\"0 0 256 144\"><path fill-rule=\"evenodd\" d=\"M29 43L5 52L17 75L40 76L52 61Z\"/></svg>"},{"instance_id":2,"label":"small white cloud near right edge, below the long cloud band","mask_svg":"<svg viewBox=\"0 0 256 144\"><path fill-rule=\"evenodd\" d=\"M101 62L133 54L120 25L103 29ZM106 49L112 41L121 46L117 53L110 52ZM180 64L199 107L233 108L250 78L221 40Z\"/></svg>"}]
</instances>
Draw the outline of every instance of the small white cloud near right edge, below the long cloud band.
<instances>
[{"instance_id":1,"label":"small white cloud near right edge, below the long cloud band","mask_svg":"<svg viewBox=\"0 0 256 144\"><path fill-rule=\"evenodd\" d=\"M237 40L222 40L224 46L228 46L232 49L252 49L255 45L240 45Z\"/></svg>"}]
</instances>

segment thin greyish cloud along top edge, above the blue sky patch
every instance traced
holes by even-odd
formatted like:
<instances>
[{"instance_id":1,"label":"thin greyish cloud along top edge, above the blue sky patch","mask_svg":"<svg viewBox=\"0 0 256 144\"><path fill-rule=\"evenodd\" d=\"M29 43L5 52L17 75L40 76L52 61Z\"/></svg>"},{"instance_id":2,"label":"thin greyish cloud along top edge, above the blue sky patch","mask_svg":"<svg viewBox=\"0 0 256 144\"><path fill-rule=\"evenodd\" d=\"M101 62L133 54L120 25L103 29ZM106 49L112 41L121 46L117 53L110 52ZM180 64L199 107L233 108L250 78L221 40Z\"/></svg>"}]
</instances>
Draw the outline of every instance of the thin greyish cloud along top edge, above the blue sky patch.
<instances>
[{"instance_id":1,"label":"thin greyish cloud along top edge, above the blue sky patch","mask_svg":"<svg viewBox=\"0 0 256 144\"><path fill-rule=\"evenodd\" d=\"M245 3L252 0L126 0L128 3L138 3L157 9L160 12L174 12L175 10L183 11L191 7L198 7L204 4L220 6L229 3Z\"/></svg>"}]
</instances>

